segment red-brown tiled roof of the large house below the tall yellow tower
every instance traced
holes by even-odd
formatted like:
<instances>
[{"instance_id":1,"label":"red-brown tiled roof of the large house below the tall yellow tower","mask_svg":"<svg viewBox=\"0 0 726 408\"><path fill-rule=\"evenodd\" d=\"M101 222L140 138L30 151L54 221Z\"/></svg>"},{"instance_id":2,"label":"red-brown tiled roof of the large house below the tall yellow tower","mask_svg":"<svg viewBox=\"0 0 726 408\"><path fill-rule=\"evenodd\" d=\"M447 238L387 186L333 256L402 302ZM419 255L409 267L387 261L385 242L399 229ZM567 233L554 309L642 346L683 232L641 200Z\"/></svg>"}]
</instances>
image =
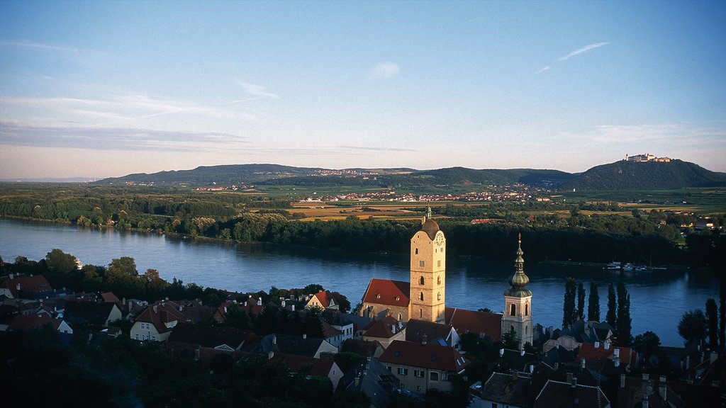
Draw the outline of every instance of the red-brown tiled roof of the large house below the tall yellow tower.
<instances>
[{"instance_id":1,"label":"red-brown tiled roof of the large house below the tall yellow tower","mask_svg":"<svg viewBox=\"0 0 726 408\"><path fill-rule=\"evenodd\" d=\"M453 347L430 343L423 346L420 343L400 340L393 340L391 346L383 351L378 360L384 364L401 364L449 372L460 372L469 365L468 360Z\"/></svg>"}]
</instances>

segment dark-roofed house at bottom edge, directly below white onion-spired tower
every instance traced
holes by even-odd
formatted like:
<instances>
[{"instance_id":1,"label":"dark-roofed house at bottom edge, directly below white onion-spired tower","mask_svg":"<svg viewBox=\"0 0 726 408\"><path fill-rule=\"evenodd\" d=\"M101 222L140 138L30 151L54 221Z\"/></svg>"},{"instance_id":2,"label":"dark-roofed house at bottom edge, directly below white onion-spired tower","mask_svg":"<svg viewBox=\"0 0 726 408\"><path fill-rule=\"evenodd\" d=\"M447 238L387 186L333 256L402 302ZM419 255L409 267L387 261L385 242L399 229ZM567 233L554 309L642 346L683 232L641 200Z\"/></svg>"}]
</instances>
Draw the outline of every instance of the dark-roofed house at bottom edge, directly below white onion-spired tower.
<instances>
[{"instance_id":1,"label":"dark-roofed house at bottom edge, directly below white onion-spired tower","mask_svg":"<svg viewBox=\"0 0 726 408\"><path fill-rule=\"evenodd\" d=\"M528 408L529 396L534 392L532 378L514 371L511 374L493 372L484 385L470 387L473 396L470 408Z\"/></svg>"}]
</instances>

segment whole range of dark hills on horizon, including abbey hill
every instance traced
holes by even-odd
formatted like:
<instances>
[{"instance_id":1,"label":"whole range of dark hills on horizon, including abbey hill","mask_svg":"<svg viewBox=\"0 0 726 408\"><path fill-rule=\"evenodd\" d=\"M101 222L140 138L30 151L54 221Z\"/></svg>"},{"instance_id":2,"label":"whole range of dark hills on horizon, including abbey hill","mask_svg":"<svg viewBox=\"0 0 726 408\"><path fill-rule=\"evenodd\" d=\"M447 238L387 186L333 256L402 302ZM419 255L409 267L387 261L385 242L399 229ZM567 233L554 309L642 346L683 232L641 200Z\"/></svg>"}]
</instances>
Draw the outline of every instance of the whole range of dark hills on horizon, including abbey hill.
<instances>
[{"instance_id":1,"label":"whole range of dark hills on horizon, including abbey hill","mask_svg":"<svg viewBox=\"0 0 726 408\"><path fill-rule=\"evenodd\" d=\"M415 170L413 168L306 168L277 164L203 166L192 170L129 174L102 179L96 184L256 184L292 186L445 186L461 184L529 184L563 189L648 189L726 186L724 174L681 160L670 163L619 161L595 166L582 174L558 170L513 168L476 170L465 167Z\"/></svg>"}]
</instances>

